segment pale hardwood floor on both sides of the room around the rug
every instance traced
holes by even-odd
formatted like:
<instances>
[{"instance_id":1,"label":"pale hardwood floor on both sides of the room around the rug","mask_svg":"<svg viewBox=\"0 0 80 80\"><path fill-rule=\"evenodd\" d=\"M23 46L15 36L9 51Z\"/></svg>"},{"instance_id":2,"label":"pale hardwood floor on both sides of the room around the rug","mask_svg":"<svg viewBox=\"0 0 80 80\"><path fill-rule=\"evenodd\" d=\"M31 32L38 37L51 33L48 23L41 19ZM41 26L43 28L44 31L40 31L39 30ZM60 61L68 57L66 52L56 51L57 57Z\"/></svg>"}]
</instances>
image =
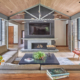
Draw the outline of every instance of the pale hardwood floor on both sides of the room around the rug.
<instances>
[{"instance_id":1,"label":"pale hardwood floor on both sides of the room around the rug","mask_svg":"<svg viewBox=\"0 0 80 80\"><path fill-rule=\"evenodd\" d=\"M25 52L21 52L20 49L23 48L23 45L9 45L9 48L18 48L18 57L23 57ZM65 57L71 60L75 65L80 64L80 60L78 60L78 56L76 55L75 58L73 58L74 53L70 52L68 47L57 47L59 49L59 52L54 53L56 57ZM30 53L30 52L26 52Z\"/></svg>"}]
</instances>

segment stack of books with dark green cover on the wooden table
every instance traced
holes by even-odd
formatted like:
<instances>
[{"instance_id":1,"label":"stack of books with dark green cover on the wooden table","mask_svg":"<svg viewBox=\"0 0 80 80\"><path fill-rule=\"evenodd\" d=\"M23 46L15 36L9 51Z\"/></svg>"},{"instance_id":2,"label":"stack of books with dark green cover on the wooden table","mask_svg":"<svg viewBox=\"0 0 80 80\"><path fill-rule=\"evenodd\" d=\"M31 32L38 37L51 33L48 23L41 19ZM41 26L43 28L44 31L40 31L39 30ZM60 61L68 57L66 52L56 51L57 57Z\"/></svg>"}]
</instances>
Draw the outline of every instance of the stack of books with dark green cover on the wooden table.
<instances>
[{"instance_id":1,"label":"stack of books with dark green cover on the wooden table","mask_svg":"<svg viewBox=\"0 0 80 80\"><path fill-rule=\"evenodd\" d=\"M48 69L47 75L52 79L61 79L69 77L69 73L63 68Z\"/></svg>"}]
</instances>

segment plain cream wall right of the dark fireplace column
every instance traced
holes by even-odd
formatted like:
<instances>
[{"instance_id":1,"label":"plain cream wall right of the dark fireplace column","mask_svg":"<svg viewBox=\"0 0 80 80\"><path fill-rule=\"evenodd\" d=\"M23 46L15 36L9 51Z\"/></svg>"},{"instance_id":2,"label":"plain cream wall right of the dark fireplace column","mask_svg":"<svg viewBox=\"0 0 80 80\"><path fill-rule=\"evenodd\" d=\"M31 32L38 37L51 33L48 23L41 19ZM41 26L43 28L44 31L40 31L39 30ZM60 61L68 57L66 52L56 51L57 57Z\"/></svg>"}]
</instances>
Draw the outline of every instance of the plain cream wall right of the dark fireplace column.
<instances>
[{"instance_id":1,"label":"plain cream wall right of the dark fireplace column","mask_svg":"<svg viewBox=\"0 0 80 80\"><path fill-rule=\"evenodd\" d=\"M66 45L66 21L55 20L54 21L54 31L55 31L55 38L56 45Z\"/></svg>"}]
</instances>

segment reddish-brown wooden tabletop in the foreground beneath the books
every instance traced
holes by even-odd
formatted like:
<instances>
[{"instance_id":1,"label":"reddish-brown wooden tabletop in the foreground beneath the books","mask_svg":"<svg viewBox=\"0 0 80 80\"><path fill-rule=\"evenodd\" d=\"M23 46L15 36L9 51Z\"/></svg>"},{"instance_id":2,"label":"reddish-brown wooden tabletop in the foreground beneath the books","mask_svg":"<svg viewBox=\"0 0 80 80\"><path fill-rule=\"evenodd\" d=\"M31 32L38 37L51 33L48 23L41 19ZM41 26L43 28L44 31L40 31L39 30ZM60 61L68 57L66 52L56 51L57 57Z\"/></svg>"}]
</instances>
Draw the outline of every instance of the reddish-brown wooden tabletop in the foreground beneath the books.
<instances>
[{"instance_id":1,"label":"reddish-brown wooden tabletop in the foreground beneath the books","mask_svg":"<svg viewBox=\"0 0 80 80\"><path fill-rule=\"evenodd\" d=\"M51 80L46 73L34 74L0 74L0 80ZM59 80L80 80L80 72L70 73L67 78Z\"/></svg>"}]
</instances>

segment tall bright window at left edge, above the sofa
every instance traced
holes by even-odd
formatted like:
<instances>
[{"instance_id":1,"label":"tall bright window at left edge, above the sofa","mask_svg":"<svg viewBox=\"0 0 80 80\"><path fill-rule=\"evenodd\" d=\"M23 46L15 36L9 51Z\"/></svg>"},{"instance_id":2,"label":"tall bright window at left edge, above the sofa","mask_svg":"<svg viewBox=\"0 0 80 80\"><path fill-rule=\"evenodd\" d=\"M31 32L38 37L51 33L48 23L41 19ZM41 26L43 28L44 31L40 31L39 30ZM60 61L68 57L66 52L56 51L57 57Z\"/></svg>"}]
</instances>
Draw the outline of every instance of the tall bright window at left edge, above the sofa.
<instances>
[{"instance_id":1,"label":"tall bright window at left edge, above the sofa","mask_svg":"<svg viewBox=\"0 0 80 80\"><path fill-rule=\"evenodd\" d=\"M5 20L0 19L0 46L5 45Z\"/></svg>"}]
</instances>

